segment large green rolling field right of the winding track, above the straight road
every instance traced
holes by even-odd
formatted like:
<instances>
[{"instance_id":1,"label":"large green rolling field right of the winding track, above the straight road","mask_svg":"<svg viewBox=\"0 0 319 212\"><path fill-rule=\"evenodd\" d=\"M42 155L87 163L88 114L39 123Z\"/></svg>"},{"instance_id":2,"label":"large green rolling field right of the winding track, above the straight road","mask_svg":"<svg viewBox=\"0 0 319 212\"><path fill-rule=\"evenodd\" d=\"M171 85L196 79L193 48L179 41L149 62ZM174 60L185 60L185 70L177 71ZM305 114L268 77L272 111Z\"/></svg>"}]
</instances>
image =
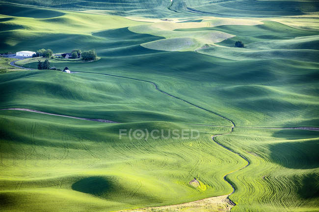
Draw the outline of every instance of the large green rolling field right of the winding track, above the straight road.
<instances>
[{"instance_id":1,"label":"large green rolling field right of the winding track, above the straight road","mask_svg":"<svg viewBox=\"0 0 319 212\"><path fill-rule=\"evenodd\" d=\"M119 55L120 52L122 50L119 50ZM147 61L153 62L150 65ZM166 68L167 64L173 67L177 62L180 66ZM143 58L130 55L126 57L125 64L116 62L114 57L106 57L95 63L95 72L105 72L105 68L98 68L105 63L109 67L107 73L154 81L164 91L224 114L239 126L285 126L288 125L287 120L290 126L317 126L318 123L315 110L317 103L314 101L317 94L316 89L313 89L317 80L317 63L289 60L239 63L191 52L152 53ZM72 71L91 71L89 64L69 63L65 66ZM136 71L130 71L132 69ZM195 70L196 77L191 70ZM303 72L298 72L300 70ZM149 71L149 74L145 75L145 71ZM291 74L292 71L294 74ZM166 77L174 81L169 83ZM189 90L189 87L192 89ZM199 90L204 99L198 96ZM228 102L227 106L225 102ZM241 112L244 109L245 112ZM245 116L247 113L249 117Z\"/></svg>"}]
</instances>

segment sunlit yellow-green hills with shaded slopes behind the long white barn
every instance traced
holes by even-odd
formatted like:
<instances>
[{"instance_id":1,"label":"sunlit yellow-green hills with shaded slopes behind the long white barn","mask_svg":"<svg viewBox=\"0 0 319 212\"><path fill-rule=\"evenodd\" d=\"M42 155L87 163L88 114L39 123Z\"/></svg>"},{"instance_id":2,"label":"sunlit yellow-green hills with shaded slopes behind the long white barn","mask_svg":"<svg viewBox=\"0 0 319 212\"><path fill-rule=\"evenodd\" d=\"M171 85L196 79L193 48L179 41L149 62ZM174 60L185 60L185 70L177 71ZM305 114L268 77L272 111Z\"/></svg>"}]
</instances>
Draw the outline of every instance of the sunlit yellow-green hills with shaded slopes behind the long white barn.
<instances>
[{"instance_id":1,"label":"sunlit yellow-green hills with shaded slopes behind the long white barn","mask_svg":"<svg viewBox=\"0 0 319 212\"><path fill-rule=\"evenodd\" d=\"M11 4L0 4L1 7L9 7L11 10L19 11L20 6ZM26 7L28 8L28 7ZM28 10L27 10L28 11ZM48 12L49 11L49 12ZM39 9L38 14L50 14L51 10ZM53 10L54 12L55 10ZM90 49L100 47L101 43L109 42L98 36L93 36L92 32L101 30L128 27L145 24L134 22L118 16L103 16L94 14L83 14L63 11L62 16L56 15L52 18L29 18L33 12L25 12L26 17L14 17L0 15L3 22L0 22L1 32L0 48L3 51L19 51L21 48L32 46L36 51L39 48L52 48L53 51L65 51L66 47ZM61 13L61 12L60 12ZM6 14L1 12L1 14ZM36 39L35 39L36 38ZM68 44L67 46L65 44ZM70 51L70 49L67 49Z\"/></svg>"}]
</instances>

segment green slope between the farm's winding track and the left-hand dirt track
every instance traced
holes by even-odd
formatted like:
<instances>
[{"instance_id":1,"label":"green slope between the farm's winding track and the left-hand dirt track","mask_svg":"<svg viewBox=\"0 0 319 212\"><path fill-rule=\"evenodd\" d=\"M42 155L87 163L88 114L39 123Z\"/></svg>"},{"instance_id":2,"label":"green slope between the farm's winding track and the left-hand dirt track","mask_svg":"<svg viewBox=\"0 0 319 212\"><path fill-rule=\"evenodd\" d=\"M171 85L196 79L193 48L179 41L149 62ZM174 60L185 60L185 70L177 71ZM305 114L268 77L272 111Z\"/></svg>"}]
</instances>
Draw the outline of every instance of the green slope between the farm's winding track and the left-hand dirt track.
<instances>
[{"instance_id":1,"label":"green slope between the farm's winding track and the left-hand dirt track","mask_svg":"<svg viewBox=\"0 0 319 212\"><path fill-rule=\"evenodd\" d=\"M1 108L22 107L117 122L162 120L229 125L227 120L162 94L146 82L60 71L12 73L0 81Z\"/></svg>"}]
</instances>

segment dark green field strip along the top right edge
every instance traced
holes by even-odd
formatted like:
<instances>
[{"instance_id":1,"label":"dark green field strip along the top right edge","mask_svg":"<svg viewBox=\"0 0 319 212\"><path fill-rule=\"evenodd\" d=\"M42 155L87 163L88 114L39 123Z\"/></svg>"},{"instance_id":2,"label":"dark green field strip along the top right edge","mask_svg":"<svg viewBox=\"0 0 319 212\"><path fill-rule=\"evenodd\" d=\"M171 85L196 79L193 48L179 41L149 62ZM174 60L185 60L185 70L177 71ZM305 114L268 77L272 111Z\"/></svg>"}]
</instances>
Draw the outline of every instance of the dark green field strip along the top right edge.
<instances>
[{"instance_id":1,"label":"dark green field strip along the top right edge","mask_svg":"<svg viewBox=\"0 0 319 212\"><path fill-rule=\"evenodd\" d=\"M296 16L318 11L317 2L290 1L197 1L180 0L173 3L171 9L184 14L199 16L225 16L225 17L276 17Z\"/></svg>"}]
</instances>

